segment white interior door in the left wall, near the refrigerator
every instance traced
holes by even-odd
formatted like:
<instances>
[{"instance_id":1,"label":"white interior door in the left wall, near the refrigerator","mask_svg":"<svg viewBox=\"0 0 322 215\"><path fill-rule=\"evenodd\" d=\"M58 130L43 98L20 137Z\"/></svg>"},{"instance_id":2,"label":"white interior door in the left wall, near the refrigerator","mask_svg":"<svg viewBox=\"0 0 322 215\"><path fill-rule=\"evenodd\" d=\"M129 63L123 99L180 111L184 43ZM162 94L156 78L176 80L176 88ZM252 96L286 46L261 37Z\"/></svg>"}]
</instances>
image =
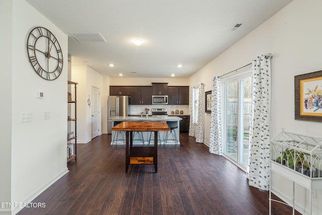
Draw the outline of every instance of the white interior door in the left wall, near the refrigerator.
<instances>
[{"instance_id":1,"label":"white interior door in the left wall, near the refrigerator","mask_svg":"<svg viewBox=\"0 0 322 215\"><path fill-rule=\"evenodd\" d=\"M99 126L99 89L96 87L92 87L92 101L91 101L91 109L92 109L92 139L97 137L100 132Z\"/></svg>"}]
</instances>

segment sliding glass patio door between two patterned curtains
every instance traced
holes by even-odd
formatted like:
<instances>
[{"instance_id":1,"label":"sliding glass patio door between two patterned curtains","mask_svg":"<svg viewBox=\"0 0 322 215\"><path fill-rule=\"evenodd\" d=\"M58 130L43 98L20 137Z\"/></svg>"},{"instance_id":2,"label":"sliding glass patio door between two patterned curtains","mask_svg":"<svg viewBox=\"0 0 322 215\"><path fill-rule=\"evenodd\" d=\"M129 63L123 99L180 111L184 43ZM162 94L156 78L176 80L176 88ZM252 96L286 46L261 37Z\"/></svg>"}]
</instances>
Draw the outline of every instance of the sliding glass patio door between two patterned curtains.
<instances>
[{"instance_id":1,"label":"sliding glass patio door between two patterned curtains","mask_svg":"<svg viewBox=\"0 0 322 215\"><path fill-rule=\"evenodd\" d=\"M252 101L250 71L222 82L223 154L246 169Z\"/></svg>"}]
</instances>

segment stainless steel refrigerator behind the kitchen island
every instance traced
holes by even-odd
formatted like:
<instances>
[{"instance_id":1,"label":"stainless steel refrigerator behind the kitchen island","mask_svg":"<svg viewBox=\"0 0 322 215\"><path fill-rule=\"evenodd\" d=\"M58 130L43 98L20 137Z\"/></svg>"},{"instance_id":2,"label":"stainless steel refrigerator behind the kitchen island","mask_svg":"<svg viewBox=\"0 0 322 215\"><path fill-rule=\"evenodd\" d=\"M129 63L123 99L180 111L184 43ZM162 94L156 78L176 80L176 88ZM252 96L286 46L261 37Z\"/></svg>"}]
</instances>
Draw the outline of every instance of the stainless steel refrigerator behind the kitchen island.
<instances>
[{"instance_id":1,"label":"stainless steel refrigerator behind the kitchen island","mask_svg":"<svg viewBox=\"0 0 322 215\"><path fill-rule=\"evenodd\" d=\"M112 133L113 116L128 116L131 113L130 96L109 96L107 101L107 133Z\"/></svg>"}]
</instances>

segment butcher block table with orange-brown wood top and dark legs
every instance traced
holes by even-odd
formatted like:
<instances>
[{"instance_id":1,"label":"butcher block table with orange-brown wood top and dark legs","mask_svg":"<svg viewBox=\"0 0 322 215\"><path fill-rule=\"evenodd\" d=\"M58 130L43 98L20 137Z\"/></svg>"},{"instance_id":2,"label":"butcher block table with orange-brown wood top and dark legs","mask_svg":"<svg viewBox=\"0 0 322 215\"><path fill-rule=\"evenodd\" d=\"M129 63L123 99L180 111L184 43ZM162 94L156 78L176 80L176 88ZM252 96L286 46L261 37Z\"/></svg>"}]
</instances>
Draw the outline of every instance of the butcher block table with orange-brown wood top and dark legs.
<instances>
[{"instance_id":1,"label":"butcher block table with orange-brown wood top and dark legs","mask_svg":"<svg viewBox=\"0 0 322 215\"><path fill-rule=\"evenodd\" d=\"M166 122L160 121L124 121L112 127L114 131L126 132L125 172L130 164L153 164L157 172L157 131L168 131L170 127ZM153 147L144 145L133 147L133 131L154 131Z\"/></svg>"}]
</instances>

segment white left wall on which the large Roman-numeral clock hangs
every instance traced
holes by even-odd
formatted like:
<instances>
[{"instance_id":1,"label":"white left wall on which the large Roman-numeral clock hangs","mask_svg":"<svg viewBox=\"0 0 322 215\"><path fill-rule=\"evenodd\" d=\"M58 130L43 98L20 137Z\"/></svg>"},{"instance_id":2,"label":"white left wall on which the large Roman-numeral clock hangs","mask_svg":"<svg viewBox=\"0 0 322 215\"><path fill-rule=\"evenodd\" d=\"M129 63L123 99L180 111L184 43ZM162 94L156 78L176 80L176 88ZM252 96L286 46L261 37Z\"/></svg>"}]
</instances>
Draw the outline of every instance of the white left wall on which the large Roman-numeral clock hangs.
<instances>
[{"instance_id":1,"label":"white left wall on which the large Roman-numeral clock hangs","mask_svg":"<svg viewBox=\"0 0 322 215\"><path fill-rule=\"evenodd\" d=\"M12 88L7 90L12 93L11 202L30 202L67 172L68 46L67 35L28 3L13 0L12 4L12 69L8 71ZM54 81L40 78L28 61L26 38L35 26L53 32L61 46L64 65ZM44 98L36 99L38 90ZM44 119L45 111L50 112L50 119ZM22 123L22 113L32 113L32 121ZM13 209L13 213L20 209Z\"/></svg>"}]
</instances>

